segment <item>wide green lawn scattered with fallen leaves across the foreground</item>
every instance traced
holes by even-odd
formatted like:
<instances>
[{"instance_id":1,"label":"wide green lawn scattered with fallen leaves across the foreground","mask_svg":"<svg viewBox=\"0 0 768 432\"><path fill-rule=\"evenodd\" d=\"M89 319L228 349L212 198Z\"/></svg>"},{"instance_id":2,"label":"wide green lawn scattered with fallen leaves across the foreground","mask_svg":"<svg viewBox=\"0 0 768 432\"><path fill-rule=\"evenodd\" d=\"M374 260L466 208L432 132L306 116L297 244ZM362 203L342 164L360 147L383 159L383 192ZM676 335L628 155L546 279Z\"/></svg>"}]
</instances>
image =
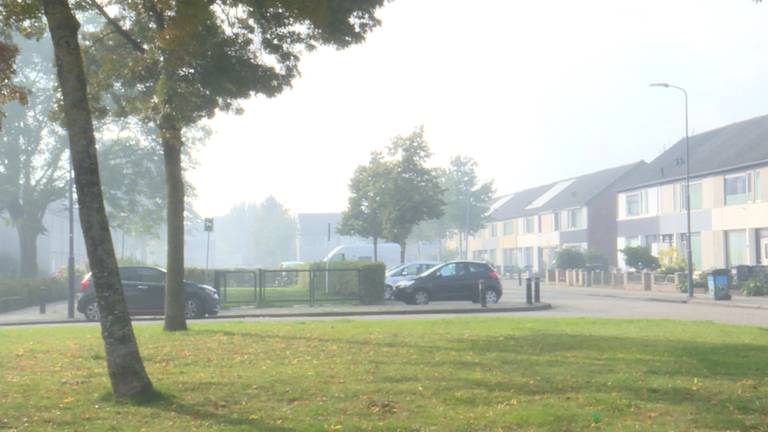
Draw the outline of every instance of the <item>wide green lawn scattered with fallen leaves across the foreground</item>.
<instances>
[{"instance_id":1,"label":"wide green lawn scattered with fallen leaves across the foreground","mask_svg":"<svg viewBox=\"0 0 768 432\"><path fill-rule=\"evenodd\" d=\"M768 330L461 318L136 327L162 396L109 396L95 326L0 328L0 430L766 430Z\"/></svg>"}]
</instances>

